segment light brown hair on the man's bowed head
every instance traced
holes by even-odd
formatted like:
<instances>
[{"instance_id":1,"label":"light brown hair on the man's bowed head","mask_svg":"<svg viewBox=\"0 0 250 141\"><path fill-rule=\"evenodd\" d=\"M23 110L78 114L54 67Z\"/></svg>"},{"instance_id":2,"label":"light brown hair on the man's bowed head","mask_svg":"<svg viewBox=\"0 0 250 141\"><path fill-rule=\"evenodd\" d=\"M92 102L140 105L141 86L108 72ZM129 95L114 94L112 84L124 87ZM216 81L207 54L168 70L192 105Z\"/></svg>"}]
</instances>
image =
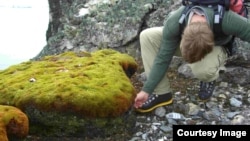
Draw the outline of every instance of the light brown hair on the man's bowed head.
<instances>
[{"instance_id":1,"label":"light brown hair on the man's bowed head","mask_svg":"<svg viewBox=\"0 0 250 141\"><path fill-rule=\"evenodd\" d=\"M180 49L188 63L204 58L214 47L214 34L206 22L193 22L186 26L182 34Z\"/></svg>"}]
</instances>

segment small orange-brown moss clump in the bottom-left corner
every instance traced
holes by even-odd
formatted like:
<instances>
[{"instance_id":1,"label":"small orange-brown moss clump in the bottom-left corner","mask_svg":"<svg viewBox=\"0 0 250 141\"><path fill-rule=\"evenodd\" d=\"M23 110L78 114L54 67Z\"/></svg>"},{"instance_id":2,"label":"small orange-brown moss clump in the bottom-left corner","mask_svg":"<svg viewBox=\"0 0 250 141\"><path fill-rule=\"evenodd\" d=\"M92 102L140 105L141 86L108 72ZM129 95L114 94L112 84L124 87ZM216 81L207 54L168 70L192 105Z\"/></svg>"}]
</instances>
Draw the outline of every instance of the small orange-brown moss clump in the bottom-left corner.
<instances>
[{"instance_id":1,"label":"small orange-brown moss clump in the bottom-left corner","mask_svg":"<svg viewBox=\"0 0 250 141\"><path fill-rule=\"evenodd\" d=\"M0 139L8 141L8 136L25 138L29 131L28 117L12 106L0 105Z\"/></svg>"}]
</instances>

